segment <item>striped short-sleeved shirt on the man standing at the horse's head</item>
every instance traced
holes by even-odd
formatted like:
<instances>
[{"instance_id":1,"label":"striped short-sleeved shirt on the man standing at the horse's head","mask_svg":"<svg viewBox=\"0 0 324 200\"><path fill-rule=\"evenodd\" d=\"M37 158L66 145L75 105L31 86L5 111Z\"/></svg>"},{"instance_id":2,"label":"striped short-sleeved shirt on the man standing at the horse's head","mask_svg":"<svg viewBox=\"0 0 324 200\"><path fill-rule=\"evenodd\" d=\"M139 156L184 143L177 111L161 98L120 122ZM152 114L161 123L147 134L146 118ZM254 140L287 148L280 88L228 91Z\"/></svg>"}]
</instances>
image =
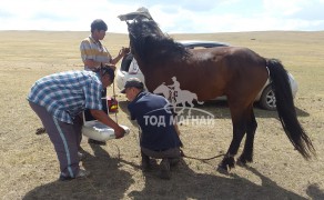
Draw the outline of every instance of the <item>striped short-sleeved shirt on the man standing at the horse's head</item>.
<instances>
[{"instance_id":1,"label":"striped short-sleeved shirt on the man standing at the horse's head","mask_svg":"<svg viewBox=\"0 0 324 200\"><path fill-rule=\"evenodd\" d=\"M82 40L80 51L83 61L89 59L97 62L110 63L112 59L107 48L100 41L97 42L91 36ZM84 69L89 69L89 67L84 66Z\"/></svg>"}]
</instances>

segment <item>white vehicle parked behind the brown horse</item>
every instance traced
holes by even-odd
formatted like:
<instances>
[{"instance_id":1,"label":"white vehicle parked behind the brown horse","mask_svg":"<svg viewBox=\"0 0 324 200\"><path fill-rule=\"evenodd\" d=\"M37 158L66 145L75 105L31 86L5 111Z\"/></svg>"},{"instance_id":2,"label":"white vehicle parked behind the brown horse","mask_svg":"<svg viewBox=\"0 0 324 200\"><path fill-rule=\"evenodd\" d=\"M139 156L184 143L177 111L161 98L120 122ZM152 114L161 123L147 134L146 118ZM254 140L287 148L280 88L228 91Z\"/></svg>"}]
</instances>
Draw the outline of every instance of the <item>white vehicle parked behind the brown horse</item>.
<instances>
[{"instance_id":1,"label":"white vehicle parked behind the brown horse","mask_svg":"<svg viewBox=\"0 0 324 200\"><path fill-rule=\"evenodd\" d=\"M195 41L195 40L183 40L179 41L183 46L190 49L201 49L201 48L214 48L214 47L224 47L229 46L226 43L222 42L215 42L215 41ZM128 58L124 58L122 60L120 69L117 71L117 86L120 90L123 89L124 83L128 79L130 78L139 78L142 82L144 82L144 76L141 72L138 62L133 59L133 57L130 54ZM294 77L288 73L290 82L291 82L291 88L292 88L292 93L293 98L295 98L296 92L297 92L297 82L294 80ZM219 97L216 100L225 100L225 97ZM211 99L212 100L212 99ZM266 110L275 110L276 104L275 104L275 96L274 91L271 88L270 80L266 81L264 84L263 89L259 92L259 94L255 98L255 101L260 103L260 106L263 109Z\"/></svg>"}]
</instances>

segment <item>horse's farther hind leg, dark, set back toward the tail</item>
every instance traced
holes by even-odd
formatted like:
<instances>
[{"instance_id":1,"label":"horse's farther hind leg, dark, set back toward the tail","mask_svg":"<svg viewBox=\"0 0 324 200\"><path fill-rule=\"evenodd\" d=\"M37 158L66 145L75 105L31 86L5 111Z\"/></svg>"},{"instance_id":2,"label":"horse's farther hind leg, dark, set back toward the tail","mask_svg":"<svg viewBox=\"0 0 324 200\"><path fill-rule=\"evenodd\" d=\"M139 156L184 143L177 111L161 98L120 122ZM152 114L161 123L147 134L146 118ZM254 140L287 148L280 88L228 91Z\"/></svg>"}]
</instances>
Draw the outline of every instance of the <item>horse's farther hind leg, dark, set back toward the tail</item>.
<instances>
[{"instance_id":1,"label":"horse's farther hind leg, dark, set back toward the tail","mask_svg":"<svg viewBox=\"0 0 324 200\"><path fill-rule=\"evenodd\" d=\"M239 158L239 162L245 164L246 162L253 161L253 142L255 130L257 128L257 123L255 120L255 116L253 112L253 106L251 106L250 118L246 121L246 139L242 154Z\"/></svg>"}]
</instances>

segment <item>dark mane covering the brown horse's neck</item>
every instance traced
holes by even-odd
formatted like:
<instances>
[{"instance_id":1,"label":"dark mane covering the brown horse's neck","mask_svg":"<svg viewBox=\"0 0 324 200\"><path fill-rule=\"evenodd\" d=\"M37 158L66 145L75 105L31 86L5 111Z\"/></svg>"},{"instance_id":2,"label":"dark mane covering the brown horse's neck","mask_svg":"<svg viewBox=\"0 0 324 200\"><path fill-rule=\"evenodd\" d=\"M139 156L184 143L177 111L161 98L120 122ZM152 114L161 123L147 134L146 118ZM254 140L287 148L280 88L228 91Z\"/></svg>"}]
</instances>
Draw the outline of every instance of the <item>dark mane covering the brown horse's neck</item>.
<instances>
[{"instance_id":1,"label":"dark mane covering the brown horse's neck","mask_svg":"<svg viewBox=\"0 0 324 200\"><path fill-rule=\"evenodd\" d=\"M144 63L151 60L154 62L182 60L190 54L183 44L164 34L153 20L135 19L129 23L129 34L133 53Z\"/></svg>"}]
</instances>

